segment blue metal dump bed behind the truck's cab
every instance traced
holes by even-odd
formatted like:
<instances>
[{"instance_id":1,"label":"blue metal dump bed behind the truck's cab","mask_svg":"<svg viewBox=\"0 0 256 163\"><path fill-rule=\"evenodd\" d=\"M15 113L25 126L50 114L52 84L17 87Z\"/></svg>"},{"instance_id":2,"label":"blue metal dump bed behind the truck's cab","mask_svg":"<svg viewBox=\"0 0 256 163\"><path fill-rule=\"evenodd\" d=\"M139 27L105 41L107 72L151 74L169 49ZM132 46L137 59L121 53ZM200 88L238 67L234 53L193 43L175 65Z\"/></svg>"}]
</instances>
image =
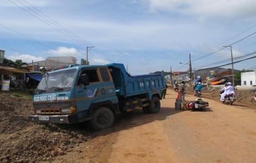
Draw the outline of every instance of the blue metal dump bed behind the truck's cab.
<instances>
[{"instance_id":1,"label":"blue metal dump bed behind the truck's cab","mask_svg":"<svg viewBox=\"0 0 256 163\"><path fill-rule=\"evenodd\" d=\"M164 73L130 76L123 64L108 64L117 96L135 96L165 89Z\"/></svg>"}]
</instances>

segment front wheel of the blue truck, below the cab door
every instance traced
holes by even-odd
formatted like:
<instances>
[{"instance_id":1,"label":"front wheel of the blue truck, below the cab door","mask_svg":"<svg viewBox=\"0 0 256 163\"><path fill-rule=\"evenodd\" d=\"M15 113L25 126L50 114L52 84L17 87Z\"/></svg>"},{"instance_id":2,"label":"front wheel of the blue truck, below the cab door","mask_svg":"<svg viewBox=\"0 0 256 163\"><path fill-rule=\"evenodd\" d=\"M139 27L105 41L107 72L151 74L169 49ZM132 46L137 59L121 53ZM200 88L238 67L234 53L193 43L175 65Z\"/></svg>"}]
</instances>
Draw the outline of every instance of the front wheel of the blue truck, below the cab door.
<instances>
[{"instance_id":1,"label":"front wheel of the blue truck, below the cab door","mask_svg":"<svg viewBox=\"0 0 256 163\"><path fill-rule=\"evenodd\" d=\"M113 112L104 106L94 110L92 117L92 126L95 130L106 129L114 124Z\"/></svg>"}]
</instances>

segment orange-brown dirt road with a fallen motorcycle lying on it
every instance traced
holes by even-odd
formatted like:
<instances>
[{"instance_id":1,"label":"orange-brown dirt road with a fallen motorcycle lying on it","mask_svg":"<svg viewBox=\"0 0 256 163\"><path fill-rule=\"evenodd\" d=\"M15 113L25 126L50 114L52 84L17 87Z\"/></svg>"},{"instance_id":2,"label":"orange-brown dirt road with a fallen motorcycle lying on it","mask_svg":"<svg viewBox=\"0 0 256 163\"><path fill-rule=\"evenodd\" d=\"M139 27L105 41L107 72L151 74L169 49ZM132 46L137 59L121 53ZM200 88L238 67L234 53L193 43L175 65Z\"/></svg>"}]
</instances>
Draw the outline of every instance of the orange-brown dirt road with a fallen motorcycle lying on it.
<instances>
[{"instance_id":1,"label":"orange-brown dirt road with a fallen motorcycle lying on it","mask_svg":"<svg viewBox=\"0 0 256 163\"><path fill-rule=\"evenodd\" d=\"M175 98L169 89L159 114L123 115L54 162L256 162L256 107L204 98L205 111L179 111Z\"/></svg>"}]
</instances>

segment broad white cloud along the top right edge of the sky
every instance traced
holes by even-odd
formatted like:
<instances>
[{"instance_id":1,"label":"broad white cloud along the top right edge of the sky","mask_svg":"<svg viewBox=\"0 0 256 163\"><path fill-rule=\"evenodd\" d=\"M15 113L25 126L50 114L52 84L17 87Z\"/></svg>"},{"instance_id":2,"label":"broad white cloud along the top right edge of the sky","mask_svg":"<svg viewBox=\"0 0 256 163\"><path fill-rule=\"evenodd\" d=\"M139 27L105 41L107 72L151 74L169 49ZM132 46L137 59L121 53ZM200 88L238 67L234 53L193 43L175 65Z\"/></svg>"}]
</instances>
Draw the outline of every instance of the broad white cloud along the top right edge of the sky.
<instances>
[{"instance_id":1,"label":"broad white cloud along the top right edge of the sky","mask_svg":"<svg viewBox=\"0 0 256 163\"><path fill-rule=\"evenodd\" d=\"M152 12L158 10L184 15L208 15L225 17L254 17L254 0L139 0Z\"/></svg>"}]
</instances>

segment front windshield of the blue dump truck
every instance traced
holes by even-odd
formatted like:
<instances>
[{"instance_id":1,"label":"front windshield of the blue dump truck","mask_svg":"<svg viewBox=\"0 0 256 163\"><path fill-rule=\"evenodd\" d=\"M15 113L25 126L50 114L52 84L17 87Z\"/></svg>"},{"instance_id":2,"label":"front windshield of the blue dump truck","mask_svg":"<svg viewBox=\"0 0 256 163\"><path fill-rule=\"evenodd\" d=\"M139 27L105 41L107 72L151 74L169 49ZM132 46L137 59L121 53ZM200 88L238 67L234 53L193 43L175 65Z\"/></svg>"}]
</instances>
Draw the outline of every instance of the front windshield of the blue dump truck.
<instances>
[{"instance_id":1,"label":"front windshield of the blue dump truck","mask_svg":"<svg viewBox=\"0 0 256 163\"><path fill-rule=\"evenodd\" d=\"M71 87L74 83L76 72L77 69L48 73L42 78L36 90Z\"/></svg>"}]
</instances>

